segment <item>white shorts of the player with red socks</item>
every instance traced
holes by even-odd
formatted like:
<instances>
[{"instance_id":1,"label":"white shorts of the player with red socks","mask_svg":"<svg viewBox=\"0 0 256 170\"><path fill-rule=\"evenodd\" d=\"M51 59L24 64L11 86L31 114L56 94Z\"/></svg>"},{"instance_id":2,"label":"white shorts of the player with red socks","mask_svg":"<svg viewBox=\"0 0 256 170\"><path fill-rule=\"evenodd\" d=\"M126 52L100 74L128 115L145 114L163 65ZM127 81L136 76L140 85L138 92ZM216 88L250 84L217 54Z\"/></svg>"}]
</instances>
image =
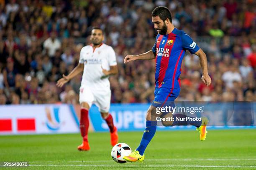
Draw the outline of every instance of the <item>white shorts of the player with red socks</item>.
<instances>
[{"instance_id":1,"label":"white shorts of the player with red socks","mask_svg":"<svg viewBox=\"0 0 256 170\"><path fill-rule=\"evenodd\" d=\"M79 92L79 102L87 102L91 107L95 103L99 107L100 112L108 112L110 109L111 90L106 89L93 89L93 87L81 86Z\"/></svg>"}]
</instances>

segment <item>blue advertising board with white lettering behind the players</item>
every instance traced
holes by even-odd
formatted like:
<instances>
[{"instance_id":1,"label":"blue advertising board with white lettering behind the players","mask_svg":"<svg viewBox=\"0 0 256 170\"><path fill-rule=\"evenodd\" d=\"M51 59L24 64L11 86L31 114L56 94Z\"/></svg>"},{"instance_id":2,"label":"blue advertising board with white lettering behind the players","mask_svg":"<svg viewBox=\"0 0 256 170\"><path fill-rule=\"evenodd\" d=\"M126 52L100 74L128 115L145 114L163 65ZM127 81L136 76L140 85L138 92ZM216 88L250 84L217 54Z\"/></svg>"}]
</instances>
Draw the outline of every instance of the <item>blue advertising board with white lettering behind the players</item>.
<instances>
[{"instance_id":1,"label":"blue advertising board with white lettering behind the players","mask_svg":"<svg viewBox=\"0 0 256 170\"><path fill-rule=\"evenodd\" d=\"M118 131L141 131L144 130L146 125L145 115L150 104L112 104L110 113L113 116L114 125ZM186 113L188 116L207 116L210 119L208 128L212 129L225 129L225 128L255 128L256 115L255 115L255 102L250 105L245 103L176 103L177 106L183 107L203 107L203 114ZM246 113L247 112L247 113ZM239 119L238 117L242 117ZM96 132L109 131L108 125L105 120L100 116L100 112L95 105L90 109L90 120ZM247 124L243 124L243 123ZM241 124L242 123L242 124ZM188 126L173 126L164 127L158 126L158 130L195 130L195 127Z\"/></svg>"}]
</instances>

